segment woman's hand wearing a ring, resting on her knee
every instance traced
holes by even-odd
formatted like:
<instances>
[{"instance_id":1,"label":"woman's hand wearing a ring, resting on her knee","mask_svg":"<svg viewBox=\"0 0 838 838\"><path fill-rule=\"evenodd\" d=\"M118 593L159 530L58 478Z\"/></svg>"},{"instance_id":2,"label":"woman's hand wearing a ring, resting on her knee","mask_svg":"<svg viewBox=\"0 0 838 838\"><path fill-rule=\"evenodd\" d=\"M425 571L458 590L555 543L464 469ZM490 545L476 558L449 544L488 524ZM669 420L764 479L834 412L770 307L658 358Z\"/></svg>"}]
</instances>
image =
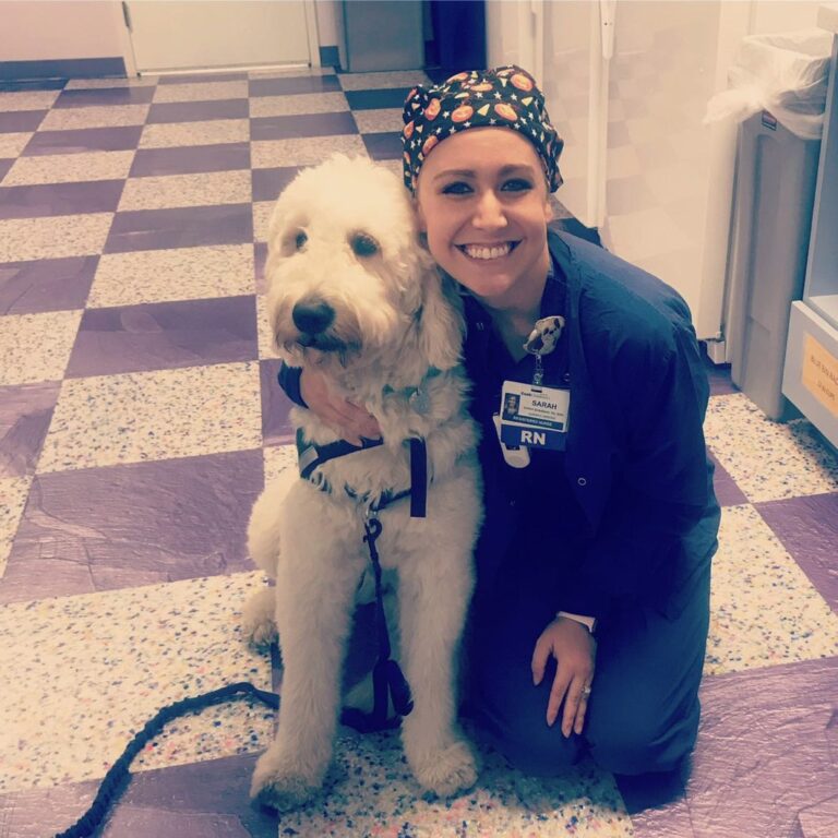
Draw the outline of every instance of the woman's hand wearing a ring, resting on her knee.
<instances>
[{"instance_id":1,"label":"woman's hand wearing a ring, resting on her knee","mask_svg":"<svg viewBox=\"0 0 838 838\"><path fill-rule=\"evenodd\" d=\"M555 658L555 678L547 705L547 723L552 726L564 701L562 733L582 733L588 709L590 682L597 642L587 626L566 616L558 616L541 632L532 653L532 683L538 686L544 677L550 656Z\"/></svg>"}]
</instances>

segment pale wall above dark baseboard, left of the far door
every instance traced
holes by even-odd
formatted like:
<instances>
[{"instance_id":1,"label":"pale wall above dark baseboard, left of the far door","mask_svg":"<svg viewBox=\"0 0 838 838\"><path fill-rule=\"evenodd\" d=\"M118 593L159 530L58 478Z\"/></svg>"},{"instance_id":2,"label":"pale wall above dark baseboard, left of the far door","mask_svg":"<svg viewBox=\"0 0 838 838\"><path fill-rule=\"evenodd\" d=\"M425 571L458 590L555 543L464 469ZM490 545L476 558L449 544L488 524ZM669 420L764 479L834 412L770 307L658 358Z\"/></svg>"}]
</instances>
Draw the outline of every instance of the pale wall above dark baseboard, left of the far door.
<instances>
[{"instance_id":1,"label":"pale wall above dark baseboard, left of the far door","mask_svg":"<svg viewBox=\"0 0 838 838\"><path fill-rule=\"evenodd\" d=\"M124 55L122 7L108 0L2 0L0 61Z\"/></svg>"}]
</instances>

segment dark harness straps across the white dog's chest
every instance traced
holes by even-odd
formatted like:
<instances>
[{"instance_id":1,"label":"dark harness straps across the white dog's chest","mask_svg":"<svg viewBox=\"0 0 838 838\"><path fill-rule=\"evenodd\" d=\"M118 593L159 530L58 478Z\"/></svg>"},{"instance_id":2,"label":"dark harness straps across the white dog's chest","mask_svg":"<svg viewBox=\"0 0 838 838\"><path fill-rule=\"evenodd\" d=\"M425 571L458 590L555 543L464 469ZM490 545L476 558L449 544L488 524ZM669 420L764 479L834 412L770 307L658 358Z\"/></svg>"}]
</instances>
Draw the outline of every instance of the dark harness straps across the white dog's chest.
<instances>
[{"instance_id":1,"label":"dark harness straps across the white dog's chest","mask_svg":"<svg viewBox=\"0 0 838 838\"><path fill-rule=\"evenodd\" d=\"M367 494L360 495L350 486L345 486L344 491L354 501L358 501L372 512L381 512L396 501L410 498L410 517L423 518L428 508L428 448L424 440L411 438L410 443L410 488L397 492L392 489L383 491L378 498ZM318 483L312 480L314 471L330 459L355 454L358 451L375 448L383 445L383 440L367 440L361 438L361 445L352 445L346 440L338 440L326 445L318 445L306 439L301 428L297 429L297 458L300 468L300 477L311 481L320 490L332 492L325 482Z\"/></svg>"}]
</instances>

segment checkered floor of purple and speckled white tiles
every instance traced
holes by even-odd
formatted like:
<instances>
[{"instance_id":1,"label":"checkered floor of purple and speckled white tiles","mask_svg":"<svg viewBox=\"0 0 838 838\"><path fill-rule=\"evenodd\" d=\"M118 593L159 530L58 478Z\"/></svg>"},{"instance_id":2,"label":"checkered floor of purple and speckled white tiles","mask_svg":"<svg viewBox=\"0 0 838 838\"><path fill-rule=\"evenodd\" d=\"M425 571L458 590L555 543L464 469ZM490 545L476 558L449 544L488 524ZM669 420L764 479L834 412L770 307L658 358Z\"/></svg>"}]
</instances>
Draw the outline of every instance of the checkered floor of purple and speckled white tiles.
<instances>
[{"instance_id":1,"label":"checkered floor of purple and speckled white tiles","mask_svg":"<svg viewBox=\"0 0 838 838\"><path fill-rule=\"evenodd\" d=\"M263 323L267 218L332 151L397 167L392 103L418 80L1 85L2 838L69 826L158 707L277 683L238 627L263 584L250 506L295 467ZM478 787L444 802L419 794L394 734L344 731L327 797L278 822L247 798L273 714L242 702L155 740L104 835L838 834L838 462L804 420L768 421L723 371L711 383L723 518L685 792L662 802L589 764L527 778L483 751Z\"/></svg>"}]
</instances>

